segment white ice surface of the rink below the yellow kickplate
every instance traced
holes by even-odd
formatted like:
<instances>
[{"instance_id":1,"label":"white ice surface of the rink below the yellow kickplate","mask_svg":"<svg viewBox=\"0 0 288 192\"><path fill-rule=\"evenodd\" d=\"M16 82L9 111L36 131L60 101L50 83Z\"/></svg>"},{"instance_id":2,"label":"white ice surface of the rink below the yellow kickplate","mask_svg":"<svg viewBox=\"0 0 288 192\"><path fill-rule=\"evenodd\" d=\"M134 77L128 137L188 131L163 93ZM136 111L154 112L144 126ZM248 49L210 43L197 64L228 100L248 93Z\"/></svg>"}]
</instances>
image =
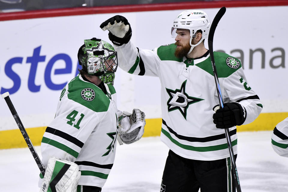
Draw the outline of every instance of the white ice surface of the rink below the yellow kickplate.
<instances>
[{"instance_id":1,"label":"white ice surface of the rink below the yellow kickplate","mask_svg":"<svg viewBox=\"0 0 288 192\"><path fill-rule=\"evenodd\" d=\"M271 147L272 131L238 133L239 180L243 192L287 192L288 158ZM40 146L35 147L38 155ZM103 192L159 192L168 148L159 137L117 146ZM0 191L39 191L39 169L27 148L0 150Z\"/></svg>"}]
</instances>

